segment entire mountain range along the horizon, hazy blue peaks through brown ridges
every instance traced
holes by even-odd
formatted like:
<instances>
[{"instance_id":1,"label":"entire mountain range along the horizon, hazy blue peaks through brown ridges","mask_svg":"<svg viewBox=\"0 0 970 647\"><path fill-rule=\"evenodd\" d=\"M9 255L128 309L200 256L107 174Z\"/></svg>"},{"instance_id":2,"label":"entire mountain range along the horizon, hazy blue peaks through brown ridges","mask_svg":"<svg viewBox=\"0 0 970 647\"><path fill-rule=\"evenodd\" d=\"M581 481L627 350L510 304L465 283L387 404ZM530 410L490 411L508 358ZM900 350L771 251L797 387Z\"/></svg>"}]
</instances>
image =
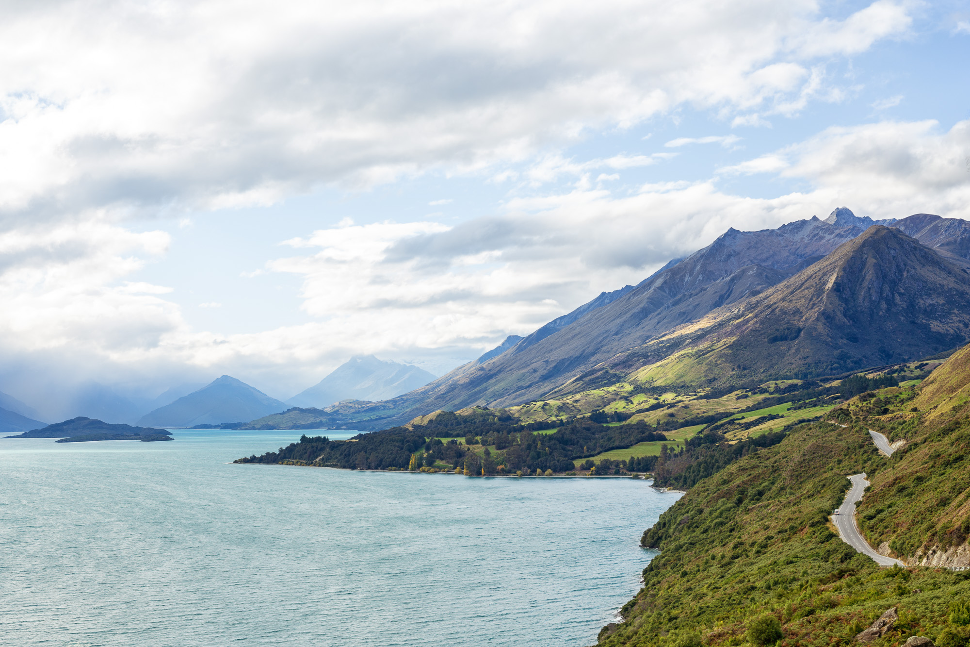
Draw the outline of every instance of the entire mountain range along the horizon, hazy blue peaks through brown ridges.
<instances>
[{"instance_id":1,"label":"entire mountain range along the horizon, hazy blue peaks through brown ridges","mask_svg":"<svg viewBox=\"0 0 970 647\"><path fill-rule=\"evenodd\" d=\"M285 403L222 376L138 403L92 383L65 410L141 426L274 426L274 415L289 412L287 426L368 429L623 382L696 390L819 377L962 344L970 335L962 314L970 312L968 270L970 222L930 214L874 221L843 207L776 229L730 228L639 284L601 292L437 379L360 356ZM0 430L39 420L0 393Z\"/></svg>"}]
</instances>

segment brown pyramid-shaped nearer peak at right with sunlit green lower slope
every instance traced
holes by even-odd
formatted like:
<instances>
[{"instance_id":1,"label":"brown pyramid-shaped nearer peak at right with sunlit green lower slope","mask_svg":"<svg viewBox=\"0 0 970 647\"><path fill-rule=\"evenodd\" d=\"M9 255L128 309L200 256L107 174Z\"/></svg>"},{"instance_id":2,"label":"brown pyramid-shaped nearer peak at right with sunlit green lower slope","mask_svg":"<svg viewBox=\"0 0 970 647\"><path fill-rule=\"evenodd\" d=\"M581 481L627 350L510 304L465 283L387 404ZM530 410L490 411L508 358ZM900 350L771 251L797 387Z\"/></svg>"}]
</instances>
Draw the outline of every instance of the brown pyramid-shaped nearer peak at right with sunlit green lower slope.
<instances>
[{"instance_id":1,"label":"brown pyramid-shaped nearer peak at right with sunlit green lower slope","mask_svg":"<svg viewBox=\"0 0 970 647\"><path fill-rule=\"evenodd\" d=\"M970 276L874 226L738 307L618 354L559 391L584 390L604 372L694 385L843 373L953 348L968 327Z\"/></svg>"}]
</instances>

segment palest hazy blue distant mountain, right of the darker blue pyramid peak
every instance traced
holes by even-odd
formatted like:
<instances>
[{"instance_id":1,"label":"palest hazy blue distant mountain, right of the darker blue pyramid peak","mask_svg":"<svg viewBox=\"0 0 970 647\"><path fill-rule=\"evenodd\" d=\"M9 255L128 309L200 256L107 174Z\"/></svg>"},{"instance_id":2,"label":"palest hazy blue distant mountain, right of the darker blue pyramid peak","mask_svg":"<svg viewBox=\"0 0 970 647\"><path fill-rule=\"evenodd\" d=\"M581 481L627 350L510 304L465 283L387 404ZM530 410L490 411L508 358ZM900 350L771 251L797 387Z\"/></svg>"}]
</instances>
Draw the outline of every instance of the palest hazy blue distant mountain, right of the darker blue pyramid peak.
<instances>
[{"instance_id":1,"label":"palest hazy blue distant mountain, right of the darker blue pyramid peak","mask_svg":"<svg viewBox=\"0 0 970 647\"><path fill-rule=\"evenodd\" d=\"M423 387L435 376L428 371L396 361L360 356L340 364L330 375L300 392L287 404L297 407L327 407L340 400L386 400Z\"/></svg>"}]
</instances>

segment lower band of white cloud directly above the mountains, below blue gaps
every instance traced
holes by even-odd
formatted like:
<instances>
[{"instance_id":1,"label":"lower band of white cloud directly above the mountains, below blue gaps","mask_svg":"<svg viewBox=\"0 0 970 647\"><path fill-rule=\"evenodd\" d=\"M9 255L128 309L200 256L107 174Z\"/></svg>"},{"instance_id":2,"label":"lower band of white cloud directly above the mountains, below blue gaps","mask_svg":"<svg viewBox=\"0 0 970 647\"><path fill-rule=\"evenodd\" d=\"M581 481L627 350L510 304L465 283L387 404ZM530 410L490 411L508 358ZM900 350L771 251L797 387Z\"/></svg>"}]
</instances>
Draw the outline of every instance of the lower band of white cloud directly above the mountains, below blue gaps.
<instances>
[{"instance_id":1,"label":"lower band of white cloud directly above the mountains, below blue gaps","mask_svg":"<svg viewBox=\"0 0 970 647\"><path fill-rule=\"evenodd\" d=\"M0 274L11 304L0 353L82 357L105 375L218 367L293 392L354 353L469 357L642 280L729 226L774 227L841 205L873 218L970 219L967 150L970 122L940 131L933 121L886 121L826 129L740 165L812 185L776 198L680 181L626 196L586 187L513 198L499 215L455 226L342 221L285 241L294 254L267 267L300 279L312 321L246 334L193 331L164 288L124 283L144 262L137 256L164 252L164 234L106 224L7 234L0 253L18 256Z\"/></svg>"}]
</instances>

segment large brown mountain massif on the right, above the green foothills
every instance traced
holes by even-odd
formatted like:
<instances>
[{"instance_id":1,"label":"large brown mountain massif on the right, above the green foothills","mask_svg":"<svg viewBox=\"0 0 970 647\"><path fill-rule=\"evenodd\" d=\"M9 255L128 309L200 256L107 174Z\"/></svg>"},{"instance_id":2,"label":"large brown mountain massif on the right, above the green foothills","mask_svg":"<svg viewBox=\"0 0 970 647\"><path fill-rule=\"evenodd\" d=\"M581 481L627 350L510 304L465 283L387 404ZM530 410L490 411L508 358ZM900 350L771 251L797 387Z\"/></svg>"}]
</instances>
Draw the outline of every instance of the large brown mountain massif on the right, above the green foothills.
<instances>
[{"instance_id":1,"label":"large brown mountain massif on the right, above the green foothills","mask_svg":"<svg viewBox=\"0 0 970 647\"><path fill-rule=\"evenodd\" d=\"M866 238L863 246L846 248L845 254L852 257L840 256L838 262L842 264L838 267L821 262L869 230L883 233ZM908 262L911 255L913 260ZM763 376L772 371L819 374L819 371L836 372L840 368L851 370L887 363L892 358L913 354L929 355L942 350L941 346L952 348L964 339L961 316L948 315L941 304L950 298L963 302L967 267L970 267L970 223L930 214L874 221L858 218L843 207L824 220L813 217L777 229L744 232L731 228L695 254L670 261L640 284L603 292L499 353L486 354L484 360L469 362L420 389L384 402L367 407L356 403L353 411L347 413L362 428L387 426L439 409L509 406L615 383L674 354L679 354L683 364L685 354L695 349L695 342L703 341L705 349L713 348L711 344L726 344L727 338L718 342L715 328L735 331L744 328L728 325L726 314L732 311L732 306L742 303L746 304L748 309L744 312L752 320L770 315L771 323L764 325L773 326L772 329L744 328L750 332L717 356L716 369L714 364L707 364L707 368L694 372L691 369L680 377L662 371L663 375L643 374L640 379L669 382L683 378L686 382L700 380L710 384L712 378L724 382ZM862 284L854 283L853 275L857 272L862 273L858 279ZM825 289L833 274L842 277L840 283ZM824 280L820 278L823 275ZM881 284L884 279L887 283ZM794 283L787 283L790 281ZM928 283L921 285L921 281ZM766 296L747 306L749 299L757 299L766 290L782 284L785 285L782 291L772 292L779 296ZM869 296L881 299L878 306L869 308L864 301L847 301L850 293L862 293L870 284L874 291ZM793 287L796 285L800 288ZM900 296L887 292L886 286L923 294ZM847 290L844 294L835 291L843 287ZM813 290L815 295L809 295ZM780 296L782 293L784 296ZM841 304L825 306L818 301L823 296ZM804 307L811 306L815 316L834 316L837 312L844 321L833 325L841 332L835 329L823 332L803 321L808 315L792 308L780 308L782 301L795 297L803 300ZM897 297L905 304L895 303ZM770 298L778 301L771 302ZM761 308L758 312L751 310L756 303ZM851 341L855 337L862 339L870 332L868 329L854 332L854 326L880 323L880 313L891 314L895 337L878 343L869 338L861 343ZM716 317L718 323L706 320L708 315ZM938 317L945 321L937 322ZM700 325L699 322L704 322L703 330L687 325ZM874 330L889 334L887 326L889 322L886 326L877 325ZM923 326L928 329L922 330ZM795 328L798 328L797 335ZM796 342L802 329L807 330L805 337ZM698 339L701 331L703 340ZM836 339L831 336L836 332L844 334ZM761 335L761 340L756 343L757 335ZM783 336L793 338L782 340ZM774 341L769 343L769 338ZM823 338L827 340L825 343L820 341ZM783 354L784 349L792 346L789 342L796 342L793 345L796 350ZM750 346L746 352L741 351L744 344ZM759 350L754 350L751 344ZM761 352L764 353L762 364L780 355L787 359L769 371L756 366L752 359L753 354ZM799 353L809 355L801 358ZM824 358L827 353L838 357ZM728 358L734 356L738 360L732 363ZM335 412L340 410L338 405Z\"/></svg>"}]
</instances>

